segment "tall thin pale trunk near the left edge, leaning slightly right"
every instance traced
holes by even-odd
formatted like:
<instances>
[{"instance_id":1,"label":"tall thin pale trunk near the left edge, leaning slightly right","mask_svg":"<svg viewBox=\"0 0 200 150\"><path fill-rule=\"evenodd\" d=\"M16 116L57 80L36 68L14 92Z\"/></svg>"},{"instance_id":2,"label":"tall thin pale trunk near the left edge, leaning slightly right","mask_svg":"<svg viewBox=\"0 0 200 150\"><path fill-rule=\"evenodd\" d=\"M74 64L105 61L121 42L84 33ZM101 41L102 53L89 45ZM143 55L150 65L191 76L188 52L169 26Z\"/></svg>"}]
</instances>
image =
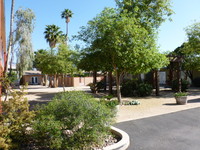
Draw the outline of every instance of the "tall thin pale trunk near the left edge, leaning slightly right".
<instances>
[{"instance_id":1,"label":"tall thin pale trunk near the left edge, leaning slightly right","mask_svg":"<svg viewBox=\"0 0 200 150\"><path fill-rule=\"evenodd\" d=\"M15 6L15 0L12 0L11 15L10 15L10 33L9 33L9 41L8 41L8 47L7 47L4 76L6 76L6 73L8 72L9 57L10 57L10 52L11 52L12 44L13 44L14 6Z\"/></svg>"}]
</instances>

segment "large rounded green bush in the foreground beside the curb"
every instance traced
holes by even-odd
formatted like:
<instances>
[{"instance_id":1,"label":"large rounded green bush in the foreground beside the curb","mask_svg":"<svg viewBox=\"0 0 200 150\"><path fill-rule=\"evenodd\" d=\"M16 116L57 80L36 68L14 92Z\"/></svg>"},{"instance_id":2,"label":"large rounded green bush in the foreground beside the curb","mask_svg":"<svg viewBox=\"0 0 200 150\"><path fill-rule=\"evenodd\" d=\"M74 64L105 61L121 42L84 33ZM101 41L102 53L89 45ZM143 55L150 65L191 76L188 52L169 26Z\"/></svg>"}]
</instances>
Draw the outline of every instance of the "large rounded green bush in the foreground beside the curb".
<instances>
[{"instance_id":1,"label":"large rounded green bush in the foreground beside the curb","mask_svg":"<svg viewBox=\"0 0 200 150\"><path fill-rule=\"evenodd\" d=\"M42 149L90 149L104 141L114 116L84 92L60 93L38 110L34 138Z\"/></svg>"}]
</instances>

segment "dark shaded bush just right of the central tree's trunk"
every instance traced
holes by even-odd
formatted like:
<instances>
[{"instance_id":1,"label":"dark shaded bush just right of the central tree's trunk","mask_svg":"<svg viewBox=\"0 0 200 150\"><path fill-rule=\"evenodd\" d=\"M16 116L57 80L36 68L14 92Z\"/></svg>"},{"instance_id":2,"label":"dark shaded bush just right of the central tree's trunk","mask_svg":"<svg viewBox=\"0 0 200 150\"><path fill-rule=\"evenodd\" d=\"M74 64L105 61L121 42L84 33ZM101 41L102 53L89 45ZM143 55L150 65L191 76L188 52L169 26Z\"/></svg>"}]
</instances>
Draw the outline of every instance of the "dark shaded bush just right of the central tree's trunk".
<instances>
[{"instance_id":1,"label":"dark shaded bush just right of the central tree's trunk","mask_svg":"<svg viewBox=\"0 0 200 150\"><path fill-rule=\"evenodd\" d=\"M122 96L149 96L152 93L152 86L148 83L135 80L125 80L122 83Z\"/></svg>"}]
</instances>

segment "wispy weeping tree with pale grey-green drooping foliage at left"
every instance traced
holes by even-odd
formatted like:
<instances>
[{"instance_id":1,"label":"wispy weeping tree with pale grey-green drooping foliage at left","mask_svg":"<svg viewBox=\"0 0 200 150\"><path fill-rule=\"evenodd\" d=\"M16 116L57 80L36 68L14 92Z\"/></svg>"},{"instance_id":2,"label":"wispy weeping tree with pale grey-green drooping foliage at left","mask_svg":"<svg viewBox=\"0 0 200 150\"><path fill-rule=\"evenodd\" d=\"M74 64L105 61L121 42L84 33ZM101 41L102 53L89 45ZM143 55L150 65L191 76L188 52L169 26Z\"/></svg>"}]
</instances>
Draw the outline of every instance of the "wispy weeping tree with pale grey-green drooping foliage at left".
<instances>
[{"instance_id":1,"label":"wispy weeping tree with pale grey-green drooping foliage at left","mask_svg":"<svg viewBox=\"0 0 200 150\"><path fill-rule=\"evenodd\" d=\"M33 65L33 47L31 36L34 29L35 14L31 9L18 9L15 14L16 23L16 44L17 49L17 71L19 77L23 71L32 68Z\"/></svg>"}]
</instances>

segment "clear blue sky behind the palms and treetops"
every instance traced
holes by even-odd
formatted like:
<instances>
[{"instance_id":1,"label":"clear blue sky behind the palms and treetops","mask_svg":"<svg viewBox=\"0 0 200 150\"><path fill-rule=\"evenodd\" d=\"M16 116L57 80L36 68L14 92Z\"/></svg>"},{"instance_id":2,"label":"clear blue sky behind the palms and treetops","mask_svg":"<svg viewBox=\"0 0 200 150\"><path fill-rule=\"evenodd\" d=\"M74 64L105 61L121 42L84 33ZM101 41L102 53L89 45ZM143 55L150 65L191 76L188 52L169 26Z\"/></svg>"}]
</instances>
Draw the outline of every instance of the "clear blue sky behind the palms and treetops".
<instances>
[{"instance_id":1,"label":"clear blue sky behind the palms and treetops","mask_svg":"<svg viewBox=\"0 0 200 150\"><path fill-rule=\"evenodd\" d=\"M9 33L11 0L5 0L6 28ZM64 9L74 13L69 23L69 37L77 34L81 26L100 13L104 7L115 7L114 0L16 0L15 10L19 7L30 8L36 15L35 30L32 37L34 50L48 49L44 39L45 25L55 24L66 32L65 20L60 14ZM172 0L175 14L173 21L166 21L159 29L158 45L160 51L172 51L186 41L184 28L200 21L200 0ZM73 42L74 43L74 42Z\"/></svg>"}]
</instances>

